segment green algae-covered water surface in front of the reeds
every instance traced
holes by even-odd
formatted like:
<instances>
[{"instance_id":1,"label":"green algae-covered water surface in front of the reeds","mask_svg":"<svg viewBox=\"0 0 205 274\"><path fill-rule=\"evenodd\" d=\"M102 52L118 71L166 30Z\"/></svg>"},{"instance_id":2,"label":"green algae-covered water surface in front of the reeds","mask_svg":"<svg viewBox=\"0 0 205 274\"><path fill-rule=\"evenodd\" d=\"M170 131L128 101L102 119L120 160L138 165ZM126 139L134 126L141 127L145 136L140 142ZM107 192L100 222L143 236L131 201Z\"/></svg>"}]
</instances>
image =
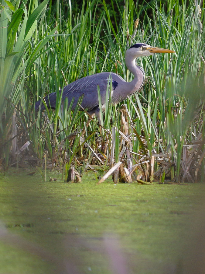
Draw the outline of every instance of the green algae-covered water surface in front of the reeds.
<instances>
[{"instance_id":1,"label":"green algae-covered water surface in front of the reeds","mask_svg":"<svg viewBox=\"0 0 205 274\"><path fill-rule=\"evenodd\" d=\"M198 267L203 184L96 185L91 172L68 184L28 173L10 170L0 178L0 273L188 273Z\"/></svg>"}]
</instances>

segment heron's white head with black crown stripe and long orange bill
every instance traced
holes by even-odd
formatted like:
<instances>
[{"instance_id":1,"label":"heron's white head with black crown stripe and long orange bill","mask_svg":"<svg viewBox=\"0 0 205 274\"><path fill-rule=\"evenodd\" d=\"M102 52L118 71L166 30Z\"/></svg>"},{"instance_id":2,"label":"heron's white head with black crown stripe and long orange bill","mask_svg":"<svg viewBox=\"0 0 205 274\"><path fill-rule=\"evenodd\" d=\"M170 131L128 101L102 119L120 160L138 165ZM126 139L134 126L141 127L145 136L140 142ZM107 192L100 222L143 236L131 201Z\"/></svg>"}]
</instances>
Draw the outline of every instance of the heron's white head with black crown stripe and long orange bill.
<instances>
[{"instance_id":1,"label":"heron's white head with black crown stripe and long orange bill","mask_svg":"<svg viewBox=\"0 0 205 274\"><path fill-rule=\"evenodd\" d=\"M149 46L149 45L143 44L143 43L134 44L132 47L130 47L127 50L127 53L129 53L130 55L132 55L135 58L140 57L140 56L149 56L149 55L152 55L157 52L171 53L171 52L175 52L175 51L168 50L166 48L152 47L152 46Z\"/></svg>"}]
</instances>

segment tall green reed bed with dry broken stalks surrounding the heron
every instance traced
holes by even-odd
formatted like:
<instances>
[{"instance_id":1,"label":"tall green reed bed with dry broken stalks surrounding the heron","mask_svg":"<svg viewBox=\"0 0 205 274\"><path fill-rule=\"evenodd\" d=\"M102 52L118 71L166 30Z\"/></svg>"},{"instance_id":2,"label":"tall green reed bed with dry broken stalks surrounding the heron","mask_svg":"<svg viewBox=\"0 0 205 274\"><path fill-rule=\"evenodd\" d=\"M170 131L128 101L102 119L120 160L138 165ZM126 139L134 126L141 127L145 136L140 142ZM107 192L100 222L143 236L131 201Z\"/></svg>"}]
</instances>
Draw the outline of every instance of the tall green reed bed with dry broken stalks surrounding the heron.
<instances>
[{"instance_id":1,"label":"tall green reed bed with dry broken stalks surrounding the heron","mask_svg":"<svg viewBox=\"0 0 205 274\"><path fill-rule=\"evenodd\" d=\"M46 165L77 180L101 166L114 182L204 181L205 3L121 2L1 1L2 169ZM118 105L108 90L102 128L96 118L86 127L87 113L60 94L55 111L35 113L37 100L81 77L131 81L124 56L138 42L176 54L138 58L145 85Z\"/></svg>"}]
</instances>

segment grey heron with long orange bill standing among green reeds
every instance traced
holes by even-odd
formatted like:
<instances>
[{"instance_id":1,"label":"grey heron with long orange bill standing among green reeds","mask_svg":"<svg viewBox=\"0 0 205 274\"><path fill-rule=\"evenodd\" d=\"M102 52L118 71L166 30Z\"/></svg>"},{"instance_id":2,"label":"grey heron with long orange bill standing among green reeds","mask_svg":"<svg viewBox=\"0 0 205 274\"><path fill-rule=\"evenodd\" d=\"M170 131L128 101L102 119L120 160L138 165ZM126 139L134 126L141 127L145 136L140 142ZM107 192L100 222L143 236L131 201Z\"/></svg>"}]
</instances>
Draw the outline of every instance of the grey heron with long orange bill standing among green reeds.
<instances>
[{"instance_id":1,"label":"grey heron with long orange bill standing among green reeds","mask_svg":"<svg viewBox=\"0 0 205 274\"><path fill-rule=\"evenodd\" d=\"M111 100L112 104L118 104L125 100L127 96L130 96L141 89L145 81L145 71L142 67L135 64L137 57L153 55L157 52L175 52L169 49L152 47L147 44L137 43L132 47L128 48L125 53L125 64L130 72L134 75L134 79L131 82L126 82L121 76L114 72L100 72L90 76L86 76L70 83L63 88L62 100L68 98L68 107L73 100L71 110L74 110L78 104L78 100L83 96L80 106L80 110L87 109L88 114L91 118L94 115L97 116L99 124L101 121L99 118L99 102L97 86L99 86L101 95L102 110L105 109L106 105L106 92L108 82L111 84ZM112 83L110 83L112 81ZM59 91L61 93L61 90ZM56 92L48 94L44 99L48 108L56 107ZM35 104L35 110L39 110L41 100ZM44 104L41 105L41 111L45 110Z\"/></svg>"}]
</instances>

